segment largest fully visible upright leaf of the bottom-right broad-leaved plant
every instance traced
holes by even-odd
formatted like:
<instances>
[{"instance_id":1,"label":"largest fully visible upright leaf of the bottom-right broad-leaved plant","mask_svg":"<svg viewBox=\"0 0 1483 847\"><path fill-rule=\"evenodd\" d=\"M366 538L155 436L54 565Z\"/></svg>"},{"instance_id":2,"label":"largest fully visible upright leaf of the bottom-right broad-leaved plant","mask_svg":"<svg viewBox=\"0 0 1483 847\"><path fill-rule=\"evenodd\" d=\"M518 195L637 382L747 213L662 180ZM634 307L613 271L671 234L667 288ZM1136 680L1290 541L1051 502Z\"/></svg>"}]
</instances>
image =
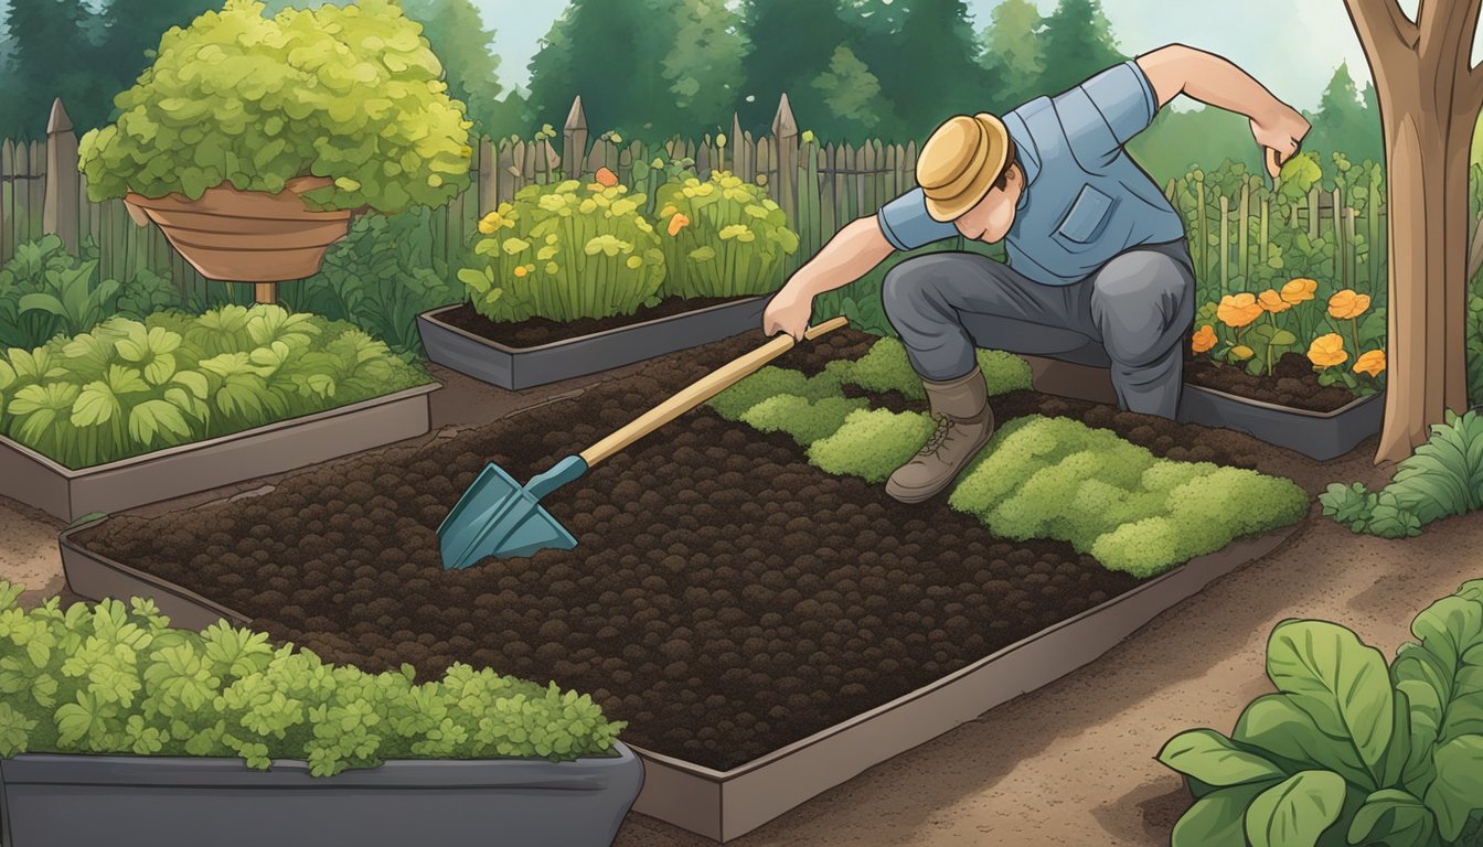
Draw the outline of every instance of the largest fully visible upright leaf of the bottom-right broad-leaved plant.
<instances>
[{"instance_id":1,"label":"largest fully visible upright leaf of the bottom-right broad-leaved plant","mask_svg":"<svg viewBox=\"0 0 1483 847\"><path fill-rule=\"evenodd\" d=\"M1378 777L1394 727L1390 670L1379 650L1348 629L1320 620L1277 624L1266 645L1266 675L1327 737L1354 746Z\"/></svg>"}]
</instances>

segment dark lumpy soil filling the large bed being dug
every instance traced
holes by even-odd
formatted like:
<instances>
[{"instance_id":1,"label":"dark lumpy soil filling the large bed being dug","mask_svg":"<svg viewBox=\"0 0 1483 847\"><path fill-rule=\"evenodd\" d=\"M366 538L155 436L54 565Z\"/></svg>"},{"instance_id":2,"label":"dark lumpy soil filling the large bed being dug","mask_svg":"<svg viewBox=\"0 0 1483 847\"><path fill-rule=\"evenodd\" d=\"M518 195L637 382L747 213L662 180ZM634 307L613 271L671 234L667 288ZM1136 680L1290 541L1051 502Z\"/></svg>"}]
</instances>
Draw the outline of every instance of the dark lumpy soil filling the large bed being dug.
<instances>
[{"instance_id":1,"label":"dark lumpy soil filling the large bed being dug","mask_svg":"<svg viewBox=\"0 0 1483 847\"><path fill-rule=\"evenodd\" d=\"M871 337L777 363L817 371ZM939 498L829 476L783 435L698 409L544 500L575 550L443 571L436 528L485 461L519 479L580 451L753 337L421 446L291 476L261 497L82 543L252 616L273 638L368 670L452 662L589 691L624 739L728 770L939 679L1137 580L1059 541L1004 541ZM897 403L908 403L897 396ZM909 405L909 403L908 403ZM1016 392L1160 455L1252 467L1261 442Z\"/></svg>"}]
</instances>

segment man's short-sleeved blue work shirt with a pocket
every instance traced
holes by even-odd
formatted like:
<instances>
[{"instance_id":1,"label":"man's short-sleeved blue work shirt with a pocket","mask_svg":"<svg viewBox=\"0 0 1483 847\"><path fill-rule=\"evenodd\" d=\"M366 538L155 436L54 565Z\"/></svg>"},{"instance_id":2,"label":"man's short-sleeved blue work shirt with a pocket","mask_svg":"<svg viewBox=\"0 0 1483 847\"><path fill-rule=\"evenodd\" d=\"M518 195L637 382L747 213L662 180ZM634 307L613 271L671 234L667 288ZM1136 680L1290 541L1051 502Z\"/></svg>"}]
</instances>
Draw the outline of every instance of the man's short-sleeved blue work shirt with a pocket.
<instances>
[{"instance_id":1,"label":"man's short-sleeved blue work shirt with a pocket","mask_svg":"<svg viewBox=\"0 0 1483 847\"><path fill-rule=\"evenodd\" d=\"M1025 172L1004 236L1010 267L1044 285L1071 285L1129 248L1185 237L1179 214L1123 150L1157 111L1148 77L1127 61L1003 117ZM899 251L958 234L952 221L927 214L921 188L881 206L878 220Z\"/></svg>"}]
</instances>

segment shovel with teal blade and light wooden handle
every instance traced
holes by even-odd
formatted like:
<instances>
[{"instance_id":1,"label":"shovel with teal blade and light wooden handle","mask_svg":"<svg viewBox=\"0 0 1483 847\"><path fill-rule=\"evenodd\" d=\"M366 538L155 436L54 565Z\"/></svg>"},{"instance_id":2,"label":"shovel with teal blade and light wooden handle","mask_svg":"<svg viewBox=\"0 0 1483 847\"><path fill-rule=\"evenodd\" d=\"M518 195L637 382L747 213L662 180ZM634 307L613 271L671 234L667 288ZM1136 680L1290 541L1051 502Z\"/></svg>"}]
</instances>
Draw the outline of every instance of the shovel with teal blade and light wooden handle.
<instances>
[{"instance_id":1,"label":"shovel with teal blade and light wooden handle","mask_svg":"<svg viewBox=\"0 0 1483 847\"><path fill-rule=\"evenodd\" d=\"M813 341L847 323L844 317L832 317L811 326L804 338ZM523 487L491 461L437 528L443 568L464 570L485 556L504 559L531 556L547 547L575 547L577 538L541 507L543 497L581 478L592 466L719 395L792 347L790 335L779 335L727 362L608 438L577 455L568 455L546 473L532 476Z\"/></svg>"}]
</instances>

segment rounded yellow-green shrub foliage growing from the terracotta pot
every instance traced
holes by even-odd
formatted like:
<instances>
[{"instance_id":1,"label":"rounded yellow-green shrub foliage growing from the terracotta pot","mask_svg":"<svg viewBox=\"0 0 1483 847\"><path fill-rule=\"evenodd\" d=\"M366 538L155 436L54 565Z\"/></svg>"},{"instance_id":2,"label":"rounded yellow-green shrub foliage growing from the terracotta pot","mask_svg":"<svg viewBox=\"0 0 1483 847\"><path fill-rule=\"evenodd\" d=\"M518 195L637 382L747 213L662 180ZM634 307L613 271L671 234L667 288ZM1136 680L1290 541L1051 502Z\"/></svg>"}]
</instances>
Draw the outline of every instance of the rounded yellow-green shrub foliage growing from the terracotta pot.
<instances>
[{"instance_id":1,"label":"rounded yellow-green shrub foliage growing from the terracotta pot","mask_svg":"<svg viewBox=\"0 0 1483 847\"><path fill-rule=\"evenodd\" d=\"M273 18L227 0L165 33L119 120L82 138L87 194L194 200L314 175L334 179L305 194L326 209L440 206L469 187L472 123L420 31L392 0Z\"/></svg>"}]
</instances>

